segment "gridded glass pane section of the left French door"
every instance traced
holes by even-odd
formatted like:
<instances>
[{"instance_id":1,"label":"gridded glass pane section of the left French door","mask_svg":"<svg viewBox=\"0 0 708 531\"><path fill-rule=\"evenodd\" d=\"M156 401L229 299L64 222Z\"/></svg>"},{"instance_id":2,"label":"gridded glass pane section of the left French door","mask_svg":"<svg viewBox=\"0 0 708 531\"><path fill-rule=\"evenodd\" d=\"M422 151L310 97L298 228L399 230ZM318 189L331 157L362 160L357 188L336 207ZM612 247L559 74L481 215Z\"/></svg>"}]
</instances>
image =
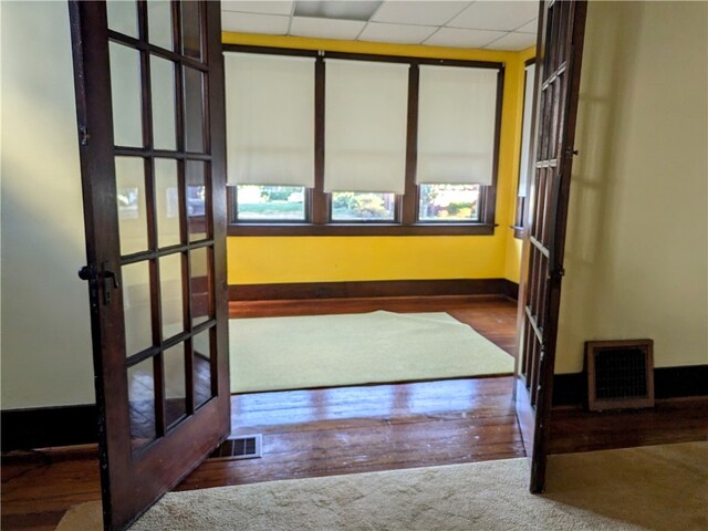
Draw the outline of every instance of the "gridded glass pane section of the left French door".
<instances>
[{"instance_id":1,"label":"gridded glass pane section of the left French door","mask_svg":"<svg viewBox=\"0 0 708 531\"><path fill-rule=\"evenodd\" d=\"M122 254L117 281L134 451L175 429L217 391L202 8L197 2L107 7ZM171 24L165 22L167 12Z\"/></svg>"}]
</instances>

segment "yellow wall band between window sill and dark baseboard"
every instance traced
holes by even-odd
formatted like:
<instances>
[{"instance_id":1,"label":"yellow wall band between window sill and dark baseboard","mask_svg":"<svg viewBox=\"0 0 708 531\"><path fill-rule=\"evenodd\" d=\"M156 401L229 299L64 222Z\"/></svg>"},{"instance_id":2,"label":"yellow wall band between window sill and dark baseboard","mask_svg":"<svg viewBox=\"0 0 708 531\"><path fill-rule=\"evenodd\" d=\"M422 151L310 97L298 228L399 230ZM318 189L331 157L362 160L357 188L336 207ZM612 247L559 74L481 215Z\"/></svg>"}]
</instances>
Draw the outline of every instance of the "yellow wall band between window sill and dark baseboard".
<instances>
[{"instance_id":1,"label":"yellow wall band between window sill and dark baseboard","mask_svg":"<svg viewBox=\"0 0 708 531\"><path fill-rule=\"evenodd\" d=\"M501 238L473 236L229 238L228 248L229 283L489 279L503 256Z\"/></svg>"}]
</instances>

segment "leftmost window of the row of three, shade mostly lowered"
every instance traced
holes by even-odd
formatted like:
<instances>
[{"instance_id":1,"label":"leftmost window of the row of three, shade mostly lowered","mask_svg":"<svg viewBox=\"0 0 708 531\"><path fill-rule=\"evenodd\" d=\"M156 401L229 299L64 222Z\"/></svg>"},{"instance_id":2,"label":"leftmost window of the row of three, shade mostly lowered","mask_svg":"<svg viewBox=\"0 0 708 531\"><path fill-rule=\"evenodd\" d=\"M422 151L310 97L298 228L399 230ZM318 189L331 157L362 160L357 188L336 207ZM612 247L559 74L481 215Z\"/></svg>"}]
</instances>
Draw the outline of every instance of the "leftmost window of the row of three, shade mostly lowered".
<instances>
[{"instance_id":1,"label":"leftmost window of the row of three, shade mostly lowered","mask_svg":"<svg viewBox=\"0 0 708 531\"><path fill-rule=\"evenodd\" d=\"M225 69L233 221L305 221L314 185L314 59L229 53Z\"/></svg>"}]
</instances>

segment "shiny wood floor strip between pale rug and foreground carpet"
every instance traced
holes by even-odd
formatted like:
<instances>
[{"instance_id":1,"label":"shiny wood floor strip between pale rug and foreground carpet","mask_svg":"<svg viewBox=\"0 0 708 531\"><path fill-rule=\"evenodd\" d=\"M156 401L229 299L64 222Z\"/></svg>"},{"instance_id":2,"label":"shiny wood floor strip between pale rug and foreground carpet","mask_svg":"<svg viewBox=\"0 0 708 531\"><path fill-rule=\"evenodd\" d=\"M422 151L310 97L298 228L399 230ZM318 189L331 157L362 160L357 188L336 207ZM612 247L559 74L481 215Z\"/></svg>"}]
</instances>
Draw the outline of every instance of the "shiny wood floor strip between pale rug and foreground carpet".
<instances>
[{"instance_id":1,"label":"shiny wood floor strip between pale rug and foreground carpet","mask_svg":"<svg viewBox=\"0 0 708 531\"><path fill-rule=\"evenodd\" d=\"M233 433L263 457L212 460L179 489L524 456L511 377L256 393L235 397Z\"/></svg>"}]
</instances>

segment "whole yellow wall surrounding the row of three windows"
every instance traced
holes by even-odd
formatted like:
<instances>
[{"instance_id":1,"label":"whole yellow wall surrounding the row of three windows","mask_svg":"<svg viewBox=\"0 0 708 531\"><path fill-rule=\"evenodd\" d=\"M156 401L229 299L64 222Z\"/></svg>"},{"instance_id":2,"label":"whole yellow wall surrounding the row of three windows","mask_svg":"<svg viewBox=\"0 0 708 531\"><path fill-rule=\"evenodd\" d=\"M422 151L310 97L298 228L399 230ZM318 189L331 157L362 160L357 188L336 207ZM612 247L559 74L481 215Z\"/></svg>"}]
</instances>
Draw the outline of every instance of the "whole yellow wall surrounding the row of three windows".
<instances>
[{"instance_id":1,"label":"whole yellow wall surrounding the row of three windows","mask_svg":"<svg viewBox=\"0 0 708 531\"><path fill-rule=\"evenodd\" d=\"M509 278L518 281L513 222L523 96L523 53L223 33L227 44L494 61L506 64L493 236L230 237L229 284ZM527 55L528 56L528 55Z\"/></svg>"}]
</instances>

